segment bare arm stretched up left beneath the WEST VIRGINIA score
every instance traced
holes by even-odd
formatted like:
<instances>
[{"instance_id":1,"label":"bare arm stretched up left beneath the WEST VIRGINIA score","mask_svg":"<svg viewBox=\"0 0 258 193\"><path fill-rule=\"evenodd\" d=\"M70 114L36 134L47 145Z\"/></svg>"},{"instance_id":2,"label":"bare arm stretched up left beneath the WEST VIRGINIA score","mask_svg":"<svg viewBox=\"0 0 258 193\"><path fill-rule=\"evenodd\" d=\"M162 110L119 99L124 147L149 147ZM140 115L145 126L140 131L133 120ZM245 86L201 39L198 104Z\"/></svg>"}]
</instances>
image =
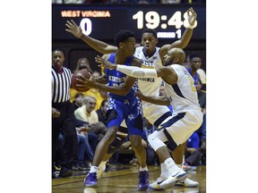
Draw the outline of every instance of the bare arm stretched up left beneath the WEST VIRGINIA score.
<instances>
[{"instance_id":1,"label":"bare arm stretched up left beneath the WEST VIRGINIA score","mask_svg":"<svg viewBox=\"0 0 258 193\"><path fill-rule=\"evenodd\" d=\"M116 52L116 50L117 50L116 46L108 45L105 42L99 41L98 39L91 38L91 37L83 34L82 29L79 26L77 26L77 24L73 20L66 21L65 26L66 26L65 30L67 32L72 33L73 36L76 38L81 38L86 44L88 44L90 47L92 47L99 53L110 54L110 53ZM104 33L105 33L105 31L104 31Z\"/></svg>"}]
</instances>

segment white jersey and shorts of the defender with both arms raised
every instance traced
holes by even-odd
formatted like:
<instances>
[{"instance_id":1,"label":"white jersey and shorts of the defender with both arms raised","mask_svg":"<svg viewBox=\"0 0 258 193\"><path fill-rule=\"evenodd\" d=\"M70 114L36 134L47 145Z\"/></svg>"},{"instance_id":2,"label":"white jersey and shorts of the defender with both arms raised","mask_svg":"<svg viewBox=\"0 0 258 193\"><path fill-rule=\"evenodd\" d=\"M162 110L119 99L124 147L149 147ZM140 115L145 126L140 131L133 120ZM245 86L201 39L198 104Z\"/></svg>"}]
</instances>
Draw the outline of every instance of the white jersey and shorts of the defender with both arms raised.
<instances>
[{"instance_id":1,"label":"white jersey and shorts of the defender with both arms raised","mask_svg":"<svg viewBox=\"0 0 258 193\"><path fill-rule=\"evenodd\" d=\"M160 47L156 47L155 54L148 58L143 54L143 46L139 46L136 47L134 56L142 60L142 68L155 69L157 66L162 66L162 62L159 56L159 49ZM159 87L161 82L161 78L139 78L138 86L143 95L159 96ZM146 117L146 119L148 119L151 124L155 123L156 127L158 127L159 124L168 117L166 117L165 114L170 112L168 106L166 105L154 105L145 101L142 101L142 110L143 116ZM160 118L161 116L162 118Z\"/></svg>"}]
</instances>

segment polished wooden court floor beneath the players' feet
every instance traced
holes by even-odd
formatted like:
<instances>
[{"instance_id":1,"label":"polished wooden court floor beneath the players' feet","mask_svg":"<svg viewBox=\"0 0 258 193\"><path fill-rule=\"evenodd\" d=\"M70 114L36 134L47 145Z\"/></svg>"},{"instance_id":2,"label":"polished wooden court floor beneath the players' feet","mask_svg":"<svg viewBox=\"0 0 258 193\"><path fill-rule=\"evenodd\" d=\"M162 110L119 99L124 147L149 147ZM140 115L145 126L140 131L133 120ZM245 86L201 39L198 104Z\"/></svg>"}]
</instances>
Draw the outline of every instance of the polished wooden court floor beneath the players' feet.
<instances>
[{"instance_id":1,"label":"polished wooden court floor beneath the players' feet","mask_svg":"<svg viewBox=\"0 0 258 193\"><path fill-rule=\"evenodd\" d=\"M159 166L148 166L149 169L149 182L152 183L159 177ZM96 189L85 188L83 180L85 175L89 171L73 172L72 177L68 178L56 178L52 180L52 193L124 193L124 192L156 192L151 189L146 191L138 191L138 172L137 166L131 165L115 165L109 168L108 172L104 172L102 178L99 179L99 187ZM196 170L189 171L188 178L191 180L199 181L199 187L197 188L181 188L174 187L173 189L166 189L158 192L170 192L170 193L195 193L206 192L206 166L197 166Z\"/></svg>"}]
</instances>

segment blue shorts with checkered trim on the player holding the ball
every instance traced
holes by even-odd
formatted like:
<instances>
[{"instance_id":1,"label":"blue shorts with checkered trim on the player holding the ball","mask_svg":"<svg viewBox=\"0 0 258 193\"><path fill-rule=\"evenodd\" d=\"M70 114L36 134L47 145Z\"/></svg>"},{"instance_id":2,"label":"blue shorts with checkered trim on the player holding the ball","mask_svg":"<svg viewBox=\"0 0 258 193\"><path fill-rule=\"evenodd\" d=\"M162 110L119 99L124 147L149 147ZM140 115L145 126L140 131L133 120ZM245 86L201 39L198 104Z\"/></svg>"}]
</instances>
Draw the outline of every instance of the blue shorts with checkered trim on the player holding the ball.
<instances>
[{"instance_id":1,"label":"blue shorts with checkered trim on the player holding the ball","mask_svg":"<svg viewBox=\"0 0 258 193\"><path fill-rule=\"evenodd\" d=\"M129 135L141 135L143 131L142 103L138 97L127 100L107 99L107 128L119 127L125 119Z\"/></svg>"}]
</instances>

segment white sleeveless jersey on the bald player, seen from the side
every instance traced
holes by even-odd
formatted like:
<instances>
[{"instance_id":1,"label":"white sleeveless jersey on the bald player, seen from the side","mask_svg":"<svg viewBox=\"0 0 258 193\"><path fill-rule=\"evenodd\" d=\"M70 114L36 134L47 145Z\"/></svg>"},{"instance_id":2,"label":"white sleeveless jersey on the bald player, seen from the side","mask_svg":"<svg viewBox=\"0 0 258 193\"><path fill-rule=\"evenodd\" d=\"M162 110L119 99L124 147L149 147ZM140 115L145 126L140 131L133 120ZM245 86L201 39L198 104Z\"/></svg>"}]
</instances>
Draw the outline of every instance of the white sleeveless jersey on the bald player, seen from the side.
<instances>
[{"instance_id":1,"label":"white sleeveless jersey on the bald player, seen from the side","mask_svg":"<svg viewBox=\"0 0 258 193\"><path fill-rule=\"evenodd\" d=\"M179 64L172 64L169 67L173 68L178 76L177 83L174 85L170 85L164 81L168 96L172 99L170 104L173 106L173 111L180 113L192 108L200 109L194 80L191 74L184 66Z\"/></svg>"}]
</instances>

